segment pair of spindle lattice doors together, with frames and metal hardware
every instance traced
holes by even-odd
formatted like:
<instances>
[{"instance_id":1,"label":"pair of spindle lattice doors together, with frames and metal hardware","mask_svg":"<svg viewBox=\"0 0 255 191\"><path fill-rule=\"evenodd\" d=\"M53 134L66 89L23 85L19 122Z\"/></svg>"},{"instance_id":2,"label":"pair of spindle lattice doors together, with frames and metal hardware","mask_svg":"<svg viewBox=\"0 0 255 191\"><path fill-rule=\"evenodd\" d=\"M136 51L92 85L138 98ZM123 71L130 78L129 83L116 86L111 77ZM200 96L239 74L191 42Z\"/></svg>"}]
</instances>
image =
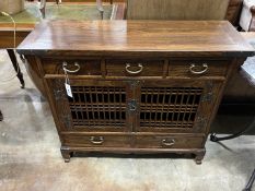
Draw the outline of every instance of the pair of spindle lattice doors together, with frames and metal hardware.
<instances>
[{"instance_id":1,"label":"pair of spindle lattice doors together, with frames and metal hardware","mask_svg":"<svg viewBox=\"0 0 255 191\"><path fill-rule=\"evenodd\" d=\"M184 80L51 80L61 130L86 132L205 132L221 82Z\"/></svg>"}]
</instances>

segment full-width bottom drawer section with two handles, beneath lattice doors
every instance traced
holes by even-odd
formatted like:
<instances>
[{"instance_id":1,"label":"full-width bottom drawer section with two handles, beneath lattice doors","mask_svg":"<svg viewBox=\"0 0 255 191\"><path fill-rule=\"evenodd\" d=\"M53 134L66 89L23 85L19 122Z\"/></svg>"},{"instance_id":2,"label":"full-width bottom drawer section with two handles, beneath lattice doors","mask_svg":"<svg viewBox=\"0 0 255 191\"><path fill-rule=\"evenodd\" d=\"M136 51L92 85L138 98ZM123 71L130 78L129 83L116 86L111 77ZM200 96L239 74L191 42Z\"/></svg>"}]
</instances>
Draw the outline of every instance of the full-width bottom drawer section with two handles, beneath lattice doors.
<instances>
[{"instance_id":1,"label":"full-width bottom drawer section with two handles, beneath lattice doors","mask_svg":"<svg viewBox=\"0 0 255 191\"><path fill-rule=\"evenodd\" d=\"M129 148L204 148L205 136L188 134L62 134L66 146Z\"/></svg>"}]
</instances>

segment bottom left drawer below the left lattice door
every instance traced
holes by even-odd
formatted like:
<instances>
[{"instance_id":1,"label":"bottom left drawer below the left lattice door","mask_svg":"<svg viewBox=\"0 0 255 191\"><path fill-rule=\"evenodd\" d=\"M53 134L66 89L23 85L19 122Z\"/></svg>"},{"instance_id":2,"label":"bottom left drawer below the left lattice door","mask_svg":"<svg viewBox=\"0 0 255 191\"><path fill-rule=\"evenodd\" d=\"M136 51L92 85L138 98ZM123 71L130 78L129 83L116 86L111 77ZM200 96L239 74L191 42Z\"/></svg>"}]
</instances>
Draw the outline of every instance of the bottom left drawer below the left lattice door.
<instances>
[{"instance_id":1,"label":"bottom left drawer below the left lattice door","mask_svg":"<svg viewBox=\"0 0 255 191\"><path fill-rule=\"evenodd\" d=\"M65 134L61 138L65 145L85 147L127 147L131 142L129 135Z\"/></svg>"}]
</instances>

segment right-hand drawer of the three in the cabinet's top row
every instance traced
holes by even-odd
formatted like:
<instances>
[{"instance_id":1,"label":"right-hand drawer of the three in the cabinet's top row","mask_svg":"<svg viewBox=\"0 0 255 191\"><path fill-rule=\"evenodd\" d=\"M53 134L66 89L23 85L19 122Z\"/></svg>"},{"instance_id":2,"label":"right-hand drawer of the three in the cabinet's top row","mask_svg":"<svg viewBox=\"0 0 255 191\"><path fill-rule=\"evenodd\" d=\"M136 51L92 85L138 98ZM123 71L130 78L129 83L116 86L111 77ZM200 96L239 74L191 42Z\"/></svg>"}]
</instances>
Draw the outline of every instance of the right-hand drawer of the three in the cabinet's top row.
<instances>
[{"instance_id":1,"label":"right-hand drawer of the three in the cabinet's top row","mask_svg":"<svg viewBox=\"0 0 255 191\"><path fill-rule=\"evenodd\" d=\"M225 76L229 60L170 60L169 76Z\"/></svg>"}]
</instances>

